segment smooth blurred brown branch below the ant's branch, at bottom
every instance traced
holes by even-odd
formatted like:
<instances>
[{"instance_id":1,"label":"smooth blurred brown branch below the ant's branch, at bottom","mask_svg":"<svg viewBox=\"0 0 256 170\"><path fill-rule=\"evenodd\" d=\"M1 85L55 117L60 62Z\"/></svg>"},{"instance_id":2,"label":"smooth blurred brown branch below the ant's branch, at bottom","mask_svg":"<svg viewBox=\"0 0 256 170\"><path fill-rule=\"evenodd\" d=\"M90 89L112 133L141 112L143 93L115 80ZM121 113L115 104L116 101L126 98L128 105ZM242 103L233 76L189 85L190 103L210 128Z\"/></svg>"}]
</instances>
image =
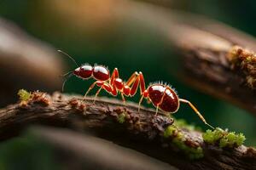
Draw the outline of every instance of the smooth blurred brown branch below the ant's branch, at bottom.
<instances>
[{"instance_id":1,"label":"smooth blurred brown branch below the ant's branch, at bottom","mask_svg":"<svg viewBox=\"0 0 256 170\"><path fill-rule=\"evenodd\" d=\"M88 134L53 127L31 127L28 132L40 143L50 144L57 165L65 169L177 169Z\"/></svg>"}]
</instances>

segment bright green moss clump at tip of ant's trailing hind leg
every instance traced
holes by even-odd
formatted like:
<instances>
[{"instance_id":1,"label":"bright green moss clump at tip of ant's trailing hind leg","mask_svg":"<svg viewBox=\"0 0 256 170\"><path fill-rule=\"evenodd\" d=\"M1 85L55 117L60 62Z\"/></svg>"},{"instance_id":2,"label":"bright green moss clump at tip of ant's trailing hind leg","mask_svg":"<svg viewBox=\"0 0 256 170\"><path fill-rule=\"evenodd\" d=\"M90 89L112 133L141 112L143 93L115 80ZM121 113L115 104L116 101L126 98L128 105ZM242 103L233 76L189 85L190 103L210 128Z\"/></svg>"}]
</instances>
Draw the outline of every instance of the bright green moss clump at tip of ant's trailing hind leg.
<instances>
[{"instance_id":1,"label":"bright green moss clump at tip of ant's trailing hind leg","mask_svg":"<svg viewBox=\"0 0 256 170\"><path fill-rule=\"evenodd\" d=\"M203 133L202 137L207 144L215 144L221 148L240 146L246 139L242 133L224 131L219 127L213 131L207 130L206 133Z\"/></svg>"}]
</instances>

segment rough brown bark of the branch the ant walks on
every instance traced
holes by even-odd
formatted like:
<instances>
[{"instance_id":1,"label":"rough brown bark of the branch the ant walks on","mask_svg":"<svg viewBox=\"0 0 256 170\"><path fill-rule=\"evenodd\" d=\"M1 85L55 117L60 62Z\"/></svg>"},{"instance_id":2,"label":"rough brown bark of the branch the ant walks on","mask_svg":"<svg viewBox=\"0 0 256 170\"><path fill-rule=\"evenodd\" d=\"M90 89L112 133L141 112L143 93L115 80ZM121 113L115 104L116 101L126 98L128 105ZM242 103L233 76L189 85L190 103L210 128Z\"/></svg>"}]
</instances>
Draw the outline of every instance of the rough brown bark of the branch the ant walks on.
<instances>
[{"instance_id":1,"label":"rough brown bark of the branch the ant walks on","mask_svg":"<svg viewBox=\"0 0 256 170\"><path fill-rule=\"evenodd\" d=\"M120 123L120 114L125 113L125 122ZM40 122L53 126L81 127L90 129L99 137L138 150L165 161L179 169L256 169L256 150L242 145L235 149L220 149L203 142L201 133L181 129L185 144L201 146L204 157L191 161L165 138L165 128L172 118L137 105L123 105L113 99L82 100L79 96L54 94L52 97L38 93L29 102L9 105L0 111L0 136L8 139L29 123ZM75 126L74 126L75 125Z\"/></svg>"}]
</instances>

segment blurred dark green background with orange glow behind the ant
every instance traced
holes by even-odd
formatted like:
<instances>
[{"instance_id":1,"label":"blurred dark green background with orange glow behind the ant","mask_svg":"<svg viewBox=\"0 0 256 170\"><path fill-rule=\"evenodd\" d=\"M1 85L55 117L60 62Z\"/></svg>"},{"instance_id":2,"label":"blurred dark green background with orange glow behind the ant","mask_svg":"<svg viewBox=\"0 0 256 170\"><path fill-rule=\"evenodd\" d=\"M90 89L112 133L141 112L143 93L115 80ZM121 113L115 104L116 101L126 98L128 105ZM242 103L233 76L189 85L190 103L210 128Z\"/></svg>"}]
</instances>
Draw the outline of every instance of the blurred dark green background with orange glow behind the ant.
<instances>
[{"instance_id":1,"label":"blurred dark green background with orange glow behind the ant","mask_svg":"<svg viewBox=\"0 0 256 170\"><path fill-rule=\"evenodd\" d=\"M12 20L33 37L48 42L56 49L67 52L81 64L90 63L93 65L97 63L108 65L110 70L118 67L120 76L125 77L124 79L131 76L134 71L143 71L147 84L155 81L169 82L177 89L179 96L193 101L207 121L213 126L227 127L232 131L242 132L247 137L246 144L256 146L256 135L254 132L256 120L254 116L234 105L195 91L188 84L183 84L177 80L177 77L172 76L175 73L170 72L170 68L176 64L166 62L165 58L175 55L175 53L173 53L172 48L167 43L166 37L163 37L153 29L148 29L148 26L143 26L143 24L137 21L124 20L120 22L121 24L114 22L111 18L108 18L108 15L104 15L104 12L106 12L103 10L105 8L104 5L107 4L102 4L102 8L96 9L93 8L94 6L91 6L89 11L81 13L83 4L87 5L84 2L2 0L0 1L0 16L4 19ZM145 2L208 16L253 36L256 34L256 25L253 24L253 19L256 17L256 2L253 0L148 0ZM61 3L61 5L56 5L56 7L62 9L69 8L70 10L55 10L55 4L57 3ZM99 14L99 16L93 18L93 16L90 16L90 13L93 13L94 10L95 13L102 11L102 15ZM86 21L84 21L84 18ZM65 56L60 57L67 63L67 71L75 68L75 65ZM76 77L72 77L67 82L65 92L84 94L91 82L93 80L84 82ZM59 90L61 90L61 87ZM94 92L91 92L91 94L94 94ZM102 93L100 95L108 94ZM138 97L136 96L128 100L137 102ZM146 106L147 104L144 103L144 105ZM147 106L152 107L152 105ZM187 122L195 123L204 129L206 128L187 105L182 105L175 114L175 117L183 118ZM25 139L27 143L24 143L24 139L20 140L19 138L0 144L0 169L5 169L6 167L4 168L4 166L9 165L9 163L6 163L9 162L7 161L8 158L13 158L14 162L19 162L20 156L17 153L24 153L26 156L31 156L30 154L37 154L38 156L38 153L50 155L48 151L45 151L47 149L35 149L37 153L27 154L25 150L30 150L29 147L33 145L30 141L27 141L28 139ZM24 149L21 149L23 146ZM29 158L27 159L29 160ZM49 164L50 168L54 168L51 167L53 163L50 159L45 160L44 163ZM24 169L32 168L26 167L26 165L22 166ZM49 167L44 169L49 169ZM16 167L13 168L16 169Z\"/></svg>"}]
</instances>

